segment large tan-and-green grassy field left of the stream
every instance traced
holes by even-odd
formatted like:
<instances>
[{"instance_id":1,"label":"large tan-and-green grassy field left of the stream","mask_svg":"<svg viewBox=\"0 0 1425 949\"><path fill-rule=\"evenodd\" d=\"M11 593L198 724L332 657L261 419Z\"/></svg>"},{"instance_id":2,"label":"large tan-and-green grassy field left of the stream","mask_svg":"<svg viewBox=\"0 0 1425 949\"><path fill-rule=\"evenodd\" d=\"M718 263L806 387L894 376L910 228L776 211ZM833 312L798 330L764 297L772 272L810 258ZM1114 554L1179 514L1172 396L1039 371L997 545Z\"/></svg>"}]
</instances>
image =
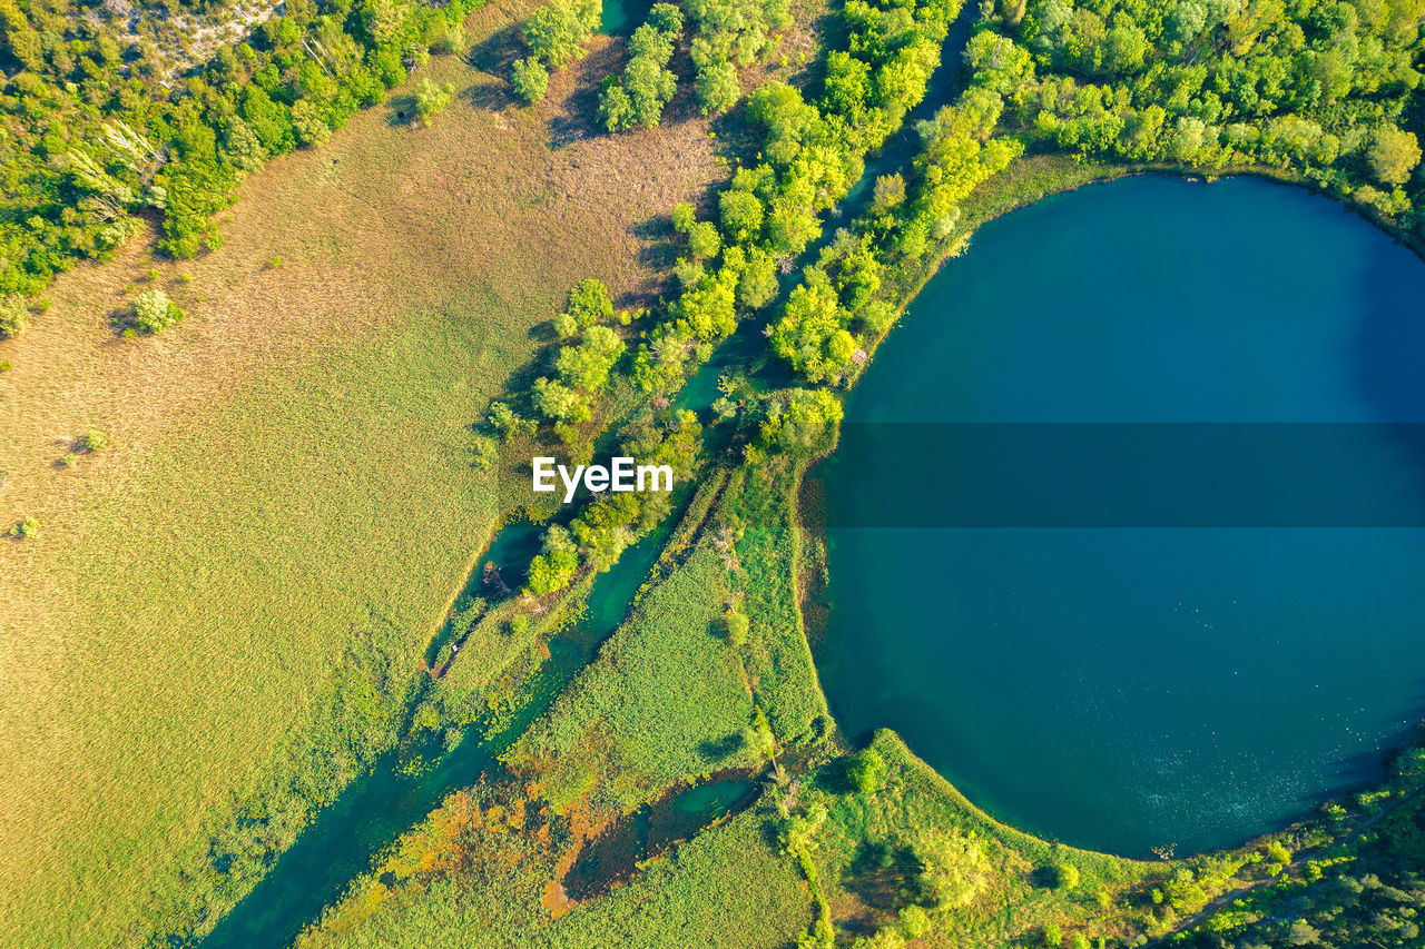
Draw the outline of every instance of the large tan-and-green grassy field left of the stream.
<instances>
[{"instance_id":1,"label":"large tan-and-green grassy field left of the stream","mask_svg":"<svg viewBox=\"0 0 1425 949\"><path fill-rule=\"evenodd\" d=\"M590 134L603 38L513 108L477 67L529 6L472 17L473 66L432 60L459 91L432 127L396 90L249 178L221 251L135 239L0 343L0 514L40 524L0 546L9 945L141 942L237 801L321 794L390 740L496 516L467 425L570 285L653 289L658 222L720 174L695 121ZM150 268L188 316L123 341ZM110 447L56 467L91 427Z\"/></svg>"}]
</instances>

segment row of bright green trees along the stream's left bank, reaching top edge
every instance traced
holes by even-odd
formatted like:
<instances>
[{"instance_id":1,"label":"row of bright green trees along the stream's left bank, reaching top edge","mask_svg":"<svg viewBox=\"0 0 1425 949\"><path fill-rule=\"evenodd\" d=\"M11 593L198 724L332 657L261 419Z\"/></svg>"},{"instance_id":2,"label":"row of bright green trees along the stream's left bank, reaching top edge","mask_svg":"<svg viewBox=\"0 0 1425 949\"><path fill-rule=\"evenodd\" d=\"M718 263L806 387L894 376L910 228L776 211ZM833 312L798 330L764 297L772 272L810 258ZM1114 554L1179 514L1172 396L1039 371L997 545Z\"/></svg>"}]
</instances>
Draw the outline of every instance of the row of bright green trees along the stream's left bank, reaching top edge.
<instances>
[{"instance_id":1,"label":"row of bright green trees along the stream's left bank, reaching top edge","mask_svg":"<svg viewBox=\"0 0 1425 949\"><path fill-rule=\"evenodd\" d=\"M848 48L832 54L841 66L821 100L784 83L748 97L748 123L762 135L758 162L737 170L711 219L698 221L690 205L674 211L687 238L683 289L640 341L633 378L644 392L680 386L742 315L771 302L778 271L821 237L821 214L861 177L866 152L923 98L956 11L953 0L851 0L842 11ZM855 76L859 91L841 91L849 80L838 74ZM842 110L851 97L861 108Z\"/></svg>"}]
</instances>

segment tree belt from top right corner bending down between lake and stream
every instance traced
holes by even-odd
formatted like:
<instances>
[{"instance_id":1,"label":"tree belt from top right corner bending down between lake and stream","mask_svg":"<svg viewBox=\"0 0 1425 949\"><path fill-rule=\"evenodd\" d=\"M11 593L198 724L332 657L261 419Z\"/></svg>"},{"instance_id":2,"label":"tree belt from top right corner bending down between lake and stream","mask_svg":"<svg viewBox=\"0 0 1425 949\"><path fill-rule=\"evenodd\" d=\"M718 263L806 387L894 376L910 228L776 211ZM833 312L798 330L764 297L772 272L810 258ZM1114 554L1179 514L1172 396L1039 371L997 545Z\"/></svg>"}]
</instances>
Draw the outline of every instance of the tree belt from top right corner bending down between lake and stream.
<instances>
[{"instance_id":1,"label":"tree belt from top right corner bending down between lake and stream","mask_svg":"<svg viewBox=\"0 0 1425 949\"><path fill-rule=\"evenodd\" d=\"M808 382L848 383L896 318L878 298L886 271L943 249L959 202L1026 147L1278 168L1406 215L1421 187L1404 124L1422 13L1421 0L1005 4L966 47L969 88L922 123L909 181L876 181L869 211L791 292L772 352ZM828 95L855 114L862 100L845 90L862 85L835 60Z\"/></svg>"}]
</instances>

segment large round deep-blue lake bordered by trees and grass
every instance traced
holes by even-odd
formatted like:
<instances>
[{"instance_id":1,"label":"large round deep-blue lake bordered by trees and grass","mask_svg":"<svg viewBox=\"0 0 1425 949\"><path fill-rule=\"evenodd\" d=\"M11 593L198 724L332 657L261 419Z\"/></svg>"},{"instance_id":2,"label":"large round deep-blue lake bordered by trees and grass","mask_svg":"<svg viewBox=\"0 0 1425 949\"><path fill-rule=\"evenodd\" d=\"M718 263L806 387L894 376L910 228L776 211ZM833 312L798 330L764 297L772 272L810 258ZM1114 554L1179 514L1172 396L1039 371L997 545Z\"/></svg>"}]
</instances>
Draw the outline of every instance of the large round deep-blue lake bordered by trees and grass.
<instances>
[{"instance_id":1,"label":"large round deep-blue lake bordered by trees and grass","mask_svg":"<svg viewBox=\"0 0 1425 949\"><path fill-rule=\"evenodd\" d=\"M888 489L848 439L821 469L818 655L844 731L892 727L996 816L1134 856L1238 844L1375 779L1425 712L1425 457L1372 425L1425 422L1422 299L1409 251L1255 180L1130 178L985 225L876 353L848 422L1020 442L1036 430L1020 423L1134 423L1107 429L1130 433L1124 453L1143 432L1204 430L1177 423L1278 423L1320 449L1310 470L1271 472L1282 496L1300 493L1292 470L1330 476L1408 526L1308 506L1263 527L1244 504L1206 527L1103 527L1049 462L1015 476L1073 526L1006 527L996 510L866 526L868 494L926 497L931 482ZM1349 450L1311 423L1340 423ZM1231 480L1233 463L1203 469Z\"/></svg>"}]
</instances>

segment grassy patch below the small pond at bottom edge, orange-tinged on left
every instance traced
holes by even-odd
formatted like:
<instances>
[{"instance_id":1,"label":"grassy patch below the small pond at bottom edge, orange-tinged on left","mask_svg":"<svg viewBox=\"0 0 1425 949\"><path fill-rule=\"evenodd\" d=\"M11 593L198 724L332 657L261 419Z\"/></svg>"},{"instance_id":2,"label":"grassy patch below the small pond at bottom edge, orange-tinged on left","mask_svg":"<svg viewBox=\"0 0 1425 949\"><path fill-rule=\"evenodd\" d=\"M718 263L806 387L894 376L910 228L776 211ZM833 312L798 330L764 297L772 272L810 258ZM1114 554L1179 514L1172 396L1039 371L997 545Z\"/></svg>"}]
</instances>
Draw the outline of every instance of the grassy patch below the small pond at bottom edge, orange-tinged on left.
<instances>
[{"instance_id":1,"label":"grassy patch below the small pond at bottom edge, orange-tinged on left","mask_svg":"<svg viewBox=\"0 0 1425 949\"><path fill-rule=\"evenodd\" d=\"M779 949L805 929L807 885L767 842L762 801L627 886L550 915L540 881L554 873L549 825L477 795L457 795L419 832L385 879L369 881L298 949ZM472 885L473 883L473 885Z\"/></svg>"}]
</instances>

